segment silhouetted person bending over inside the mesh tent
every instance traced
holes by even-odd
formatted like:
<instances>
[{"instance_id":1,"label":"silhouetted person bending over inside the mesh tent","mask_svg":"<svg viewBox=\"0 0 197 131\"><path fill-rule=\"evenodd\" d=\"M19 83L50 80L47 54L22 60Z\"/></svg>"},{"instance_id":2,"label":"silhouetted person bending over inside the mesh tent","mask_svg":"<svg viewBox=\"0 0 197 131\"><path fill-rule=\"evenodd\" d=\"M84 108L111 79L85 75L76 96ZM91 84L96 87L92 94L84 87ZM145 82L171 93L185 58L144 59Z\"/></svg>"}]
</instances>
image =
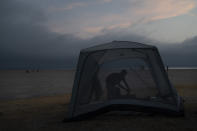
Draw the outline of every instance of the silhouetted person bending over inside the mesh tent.
<instances>
[{"instance_id":1,"label":"silhouetted person bending over inside the mesh tent","mask_svg":"<svg viewBox=\"0 0 197 131\"><path fill-rule=\"evenodd\" d=\"M120 73L111 73L106 78L107 96L109 99L119 98L121 96L120 88L126 90L129 94L129 86L125 80L126 75L127 71L122 70ZM123 82L124 85L122 85L121 82Z\"/></svg>"}]
</instances>

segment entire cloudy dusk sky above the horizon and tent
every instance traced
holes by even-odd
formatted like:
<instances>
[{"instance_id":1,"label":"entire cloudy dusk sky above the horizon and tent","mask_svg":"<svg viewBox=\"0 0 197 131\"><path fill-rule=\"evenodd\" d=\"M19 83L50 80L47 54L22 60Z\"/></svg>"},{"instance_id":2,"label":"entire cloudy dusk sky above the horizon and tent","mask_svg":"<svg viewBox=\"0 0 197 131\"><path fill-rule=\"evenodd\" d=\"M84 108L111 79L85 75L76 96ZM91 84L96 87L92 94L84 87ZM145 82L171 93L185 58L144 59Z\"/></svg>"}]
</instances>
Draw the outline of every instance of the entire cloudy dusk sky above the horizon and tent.
<instances>
[{"instance_id":1,"label":"entire cloudy dusk sky above the horizon and tent","mask_svg":"<svg viewBox=\"0 0 197 131\"><path fill-rule=\"evenodd\" d=\"M0 0L0 68L69 68L80 49L113 40L197 66L196 23L197 0Z\"/></svg>"}]
</instances>

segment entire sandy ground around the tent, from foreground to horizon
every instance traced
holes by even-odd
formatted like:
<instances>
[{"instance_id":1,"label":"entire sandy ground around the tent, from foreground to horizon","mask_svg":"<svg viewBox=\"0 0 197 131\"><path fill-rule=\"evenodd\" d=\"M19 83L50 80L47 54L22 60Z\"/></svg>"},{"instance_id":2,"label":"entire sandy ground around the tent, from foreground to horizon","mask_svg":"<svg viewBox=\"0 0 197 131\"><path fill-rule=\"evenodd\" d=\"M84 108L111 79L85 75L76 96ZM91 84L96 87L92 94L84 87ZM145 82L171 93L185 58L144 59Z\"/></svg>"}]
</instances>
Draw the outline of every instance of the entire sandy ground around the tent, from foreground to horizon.
<instances>
[{"instance_id":1,"label":"entire sandy ground around the tent, from foreground to horizon","mask_svg":"<svg viewBox=\"0 0 197 131\"><path fill-rule=\"evenodd\" d=\"M67 113L74 71L1 71L0 131L196 131L197 75L196 70L187 72L169 72L172 83L185 99L185 117L105 114L84 121L62 123ZM189 78L183 79L181 73Z\"/></svg>"}]
</instances>

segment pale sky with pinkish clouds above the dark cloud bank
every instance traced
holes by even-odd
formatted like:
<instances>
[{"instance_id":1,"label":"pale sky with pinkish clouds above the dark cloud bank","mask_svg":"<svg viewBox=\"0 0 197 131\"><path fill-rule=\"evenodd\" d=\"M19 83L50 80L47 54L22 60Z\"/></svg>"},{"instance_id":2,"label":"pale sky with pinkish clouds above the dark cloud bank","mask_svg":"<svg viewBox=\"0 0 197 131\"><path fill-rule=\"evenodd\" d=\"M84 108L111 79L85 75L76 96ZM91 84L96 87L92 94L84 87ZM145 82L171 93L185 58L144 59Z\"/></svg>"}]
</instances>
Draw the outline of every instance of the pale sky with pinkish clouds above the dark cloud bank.
<instances>
[{"instance_id":1,"label":"pale sky with pinkish clouds above the dark cloud bank","mask_svg":"<svg viewBox=\"0 0 197 131\"><path fill-rule=\"evenodd\" d=\"M126 31L162 42L180 42L197 35L194 0L47 1L40 5L49 16L46 24L61 34L86 39L105 31Z\"/></svg>"}]
</instances>

